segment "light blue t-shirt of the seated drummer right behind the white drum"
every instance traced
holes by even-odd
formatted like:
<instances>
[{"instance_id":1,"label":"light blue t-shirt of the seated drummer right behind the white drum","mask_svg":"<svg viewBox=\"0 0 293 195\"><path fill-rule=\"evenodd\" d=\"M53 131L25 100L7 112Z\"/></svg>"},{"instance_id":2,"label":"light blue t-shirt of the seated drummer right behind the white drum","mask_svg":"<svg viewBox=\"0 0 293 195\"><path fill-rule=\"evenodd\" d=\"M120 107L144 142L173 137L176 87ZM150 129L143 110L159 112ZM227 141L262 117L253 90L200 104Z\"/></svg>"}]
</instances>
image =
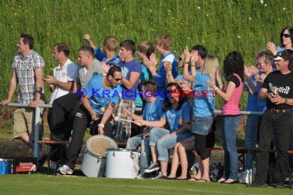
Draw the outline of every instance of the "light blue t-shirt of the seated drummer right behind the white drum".
<instances>
[{"instance_id":1,"label":"light blue t-shirt of the seated drummer right behind the white drum","mask_svg":"<svg viewBox=\"0 0 293 195\"><path fill-rule=\"evenodd\" d=\"M163 99L161 97L157 97L152 104L145 103L142 117L146 121L159 121L163 115L163 106ZM152 129L152 127L149 127L149 129Z\"/></svg>"}]
</instances>

